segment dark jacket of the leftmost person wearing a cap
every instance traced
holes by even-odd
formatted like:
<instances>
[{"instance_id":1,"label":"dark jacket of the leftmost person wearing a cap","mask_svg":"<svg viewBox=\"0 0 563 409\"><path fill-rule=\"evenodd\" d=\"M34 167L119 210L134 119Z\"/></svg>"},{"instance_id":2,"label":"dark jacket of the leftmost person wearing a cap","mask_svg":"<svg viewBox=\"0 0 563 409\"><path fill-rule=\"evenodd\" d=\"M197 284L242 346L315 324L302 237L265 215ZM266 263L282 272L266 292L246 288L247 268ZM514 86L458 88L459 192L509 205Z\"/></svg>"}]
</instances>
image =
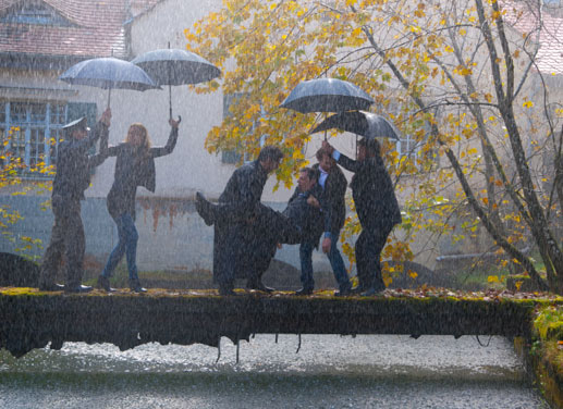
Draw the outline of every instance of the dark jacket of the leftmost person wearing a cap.
<instances>
[{"instance_id":1,"label":"dark jacket of the leftmost person wearing a cap","mask_svg":"<svg viewBox=\"0 0 563 409\"><path fill-rule=\"evenodd\" d=\"M84 139L69 139L59 144L57 173L52 184L52 196L59 195L72 200L83 200L84 190L90 184L91 170L103 162L103 157L88 154L98 138L108 137L108 127L98 122Z\"/></svg>"}]
</instances>

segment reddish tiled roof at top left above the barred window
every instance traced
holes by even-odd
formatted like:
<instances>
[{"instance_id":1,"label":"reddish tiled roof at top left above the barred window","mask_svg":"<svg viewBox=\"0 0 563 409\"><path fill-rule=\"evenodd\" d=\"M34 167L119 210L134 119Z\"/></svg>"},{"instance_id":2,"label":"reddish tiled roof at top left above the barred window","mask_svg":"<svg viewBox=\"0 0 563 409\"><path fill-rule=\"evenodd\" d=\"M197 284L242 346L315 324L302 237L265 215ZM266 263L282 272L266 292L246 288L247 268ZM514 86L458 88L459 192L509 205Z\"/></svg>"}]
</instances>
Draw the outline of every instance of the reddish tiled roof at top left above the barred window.
<instances>
[{"instance_id":1,"label":"reddish tiled roof at top left above the barred window","mask_svg":"<svg viewBox=\"0 0 563 409\"><path fill-rule=\"evenodd\" d=\"M0 53L126 58L124 23L160 1L0 0ZM25 8L46 20L23 20Z\"/></svg>"}]
</instances>

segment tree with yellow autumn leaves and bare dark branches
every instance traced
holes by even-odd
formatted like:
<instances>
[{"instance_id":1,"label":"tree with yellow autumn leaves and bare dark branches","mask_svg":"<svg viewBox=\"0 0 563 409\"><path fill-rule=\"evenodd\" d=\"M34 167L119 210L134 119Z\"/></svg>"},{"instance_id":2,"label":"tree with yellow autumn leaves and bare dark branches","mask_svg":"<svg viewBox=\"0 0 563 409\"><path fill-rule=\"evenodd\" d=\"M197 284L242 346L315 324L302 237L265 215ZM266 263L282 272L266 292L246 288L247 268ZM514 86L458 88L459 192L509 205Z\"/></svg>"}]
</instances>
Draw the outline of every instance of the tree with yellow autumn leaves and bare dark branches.
<instances>
[{"instance_id":1,"label":"tree with yellow autumn leaves and bare dark branches","mask_svg":"<svg viewBox=\"0 0 563 409\"><path fill-rule=\"evenodd\" d=\"M561 107L539 64L547 20L539 0L224 0L185 32L223 71L222 85L198 91L242 96L206 147L255 153L268 135L290 158L278 175L289 185L317 117L280 103L304 79L351 80L414 141L404 156L384 146L407 213L385 251L405 257L420 231L451 233L465 218L540 288L563 293Z\"/></svg>"}]
</instances>

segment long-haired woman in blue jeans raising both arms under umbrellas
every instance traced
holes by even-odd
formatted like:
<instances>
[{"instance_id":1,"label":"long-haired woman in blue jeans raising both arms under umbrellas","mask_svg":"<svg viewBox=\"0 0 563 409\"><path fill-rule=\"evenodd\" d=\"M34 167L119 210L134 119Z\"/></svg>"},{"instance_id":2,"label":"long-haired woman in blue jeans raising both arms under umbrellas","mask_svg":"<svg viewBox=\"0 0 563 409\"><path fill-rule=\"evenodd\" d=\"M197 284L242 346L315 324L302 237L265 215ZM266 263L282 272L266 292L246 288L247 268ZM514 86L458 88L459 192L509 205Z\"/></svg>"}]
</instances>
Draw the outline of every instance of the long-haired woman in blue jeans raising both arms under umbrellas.
<instances>
[{"instance_id":1,"label":"long-haired woman in blue jeans raising both arms under umbrellas","mask_svg":"<svg viewBox=\"0 0 563 409\"><path fill-rule=\"evenodd\" d=\"M155 191L155 158L172 153L178 140L180 121L169 120L171 131L164 147L150 147L147 129L139 123L130 126L125 140L118 146L108 147L108 140L102 140L101 154L117 157L114 181L108 194L107 205L118 227L119 241L98 277L98 287L107 292L113 290L110 287L110 277L125 255L130 288L135 293L146 293L146 288L140 285L136 265L138 233L135 228L135 197L137 186Z\"/></svg>"}]
</instances>

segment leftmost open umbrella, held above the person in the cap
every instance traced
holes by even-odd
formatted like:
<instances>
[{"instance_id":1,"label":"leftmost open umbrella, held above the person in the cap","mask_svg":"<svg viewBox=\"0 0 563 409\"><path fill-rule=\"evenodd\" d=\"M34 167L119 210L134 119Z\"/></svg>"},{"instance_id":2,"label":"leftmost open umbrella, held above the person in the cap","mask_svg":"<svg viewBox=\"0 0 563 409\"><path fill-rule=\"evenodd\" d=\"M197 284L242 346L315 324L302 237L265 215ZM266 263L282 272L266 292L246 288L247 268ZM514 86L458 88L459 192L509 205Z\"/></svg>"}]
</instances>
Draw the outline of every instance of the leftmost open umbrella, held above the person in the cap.
<instances>
[{"instance_id":1,"label":"leftmost open umbrella, held above the person in the cap","mask_svg":"<svg viewBox=\"0 0 563 409\"><path fill-rule=\"evenodd\" d=\"M112 57L82 61L66 70L59 79L73 85L89 85L109 89L108 107L112 88L139 91L160 88L147 73L135 64Z\"/></svg>"}]
</instances>

